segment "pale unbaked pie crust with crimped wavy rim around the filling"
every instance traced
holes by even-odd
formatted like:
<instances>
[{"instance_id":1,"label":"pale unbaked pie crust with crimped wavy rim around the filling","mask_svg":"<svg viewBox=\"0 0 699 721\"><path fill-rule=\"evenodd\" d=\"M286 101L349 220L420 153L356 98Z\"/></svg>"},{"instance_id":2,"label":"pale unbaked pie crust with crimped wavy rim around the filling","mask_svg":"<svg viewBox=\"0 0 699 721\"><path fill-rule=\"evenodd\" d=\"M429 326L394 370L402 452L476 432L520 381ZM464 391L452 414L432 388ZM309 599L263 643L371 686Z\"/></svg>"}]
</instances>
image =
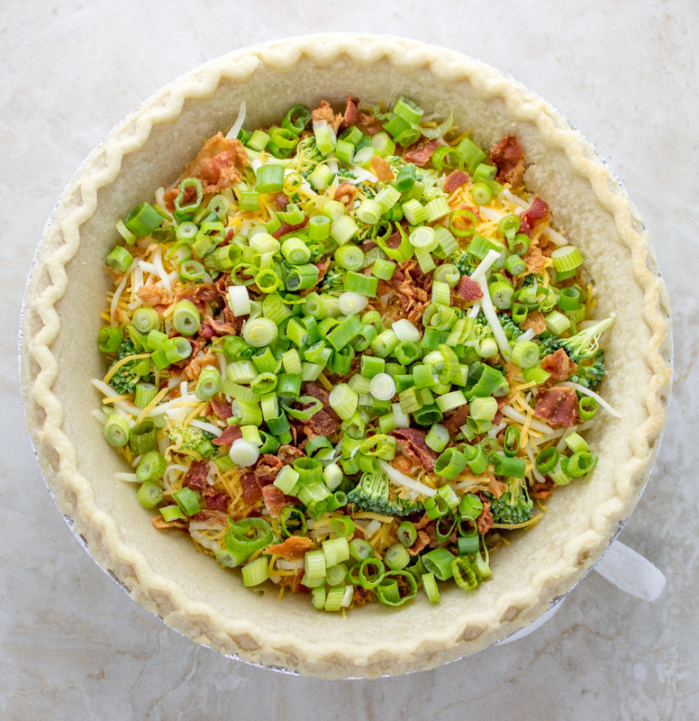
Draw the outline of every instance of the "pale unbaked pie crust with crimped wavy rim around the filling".
<instances>
[{"instance_id":1,"label":"pale unbaked pie crust with crimped wavy rim around the filling","mask_svg":"<svg viewBox=\"0 0 699 721\"><path fill-rule=\"evenodd\" d=\"M492 556L495 575L476 592L444 589L439 605L419 594L395 611L379 604L346 619L308 598L251 591L198 554L184 534L162 533L133 488L113 480L123 459L91 416L88 379L102 377L95 337L110 287L102 270L116 220L168 186L204 139L231 126L241 100L246 127L272 123L288 106L337 107L412 97L448 114L491 147L516 133L525 182L586 258L599 302L614 311L600 409L588 440L599 454L590 479L549 499L539 525ZM590 569L638 502L667 413L670 321L648 233L592 145L539 96L458 52L417 41L324 34L240 50L162 88L118 124L70 181L45 229L23 315L22 387L41 470L60 511L89 552L142 607L213 649L322 678L430 669L531 623Z\"/></svg>"}]
</instances>

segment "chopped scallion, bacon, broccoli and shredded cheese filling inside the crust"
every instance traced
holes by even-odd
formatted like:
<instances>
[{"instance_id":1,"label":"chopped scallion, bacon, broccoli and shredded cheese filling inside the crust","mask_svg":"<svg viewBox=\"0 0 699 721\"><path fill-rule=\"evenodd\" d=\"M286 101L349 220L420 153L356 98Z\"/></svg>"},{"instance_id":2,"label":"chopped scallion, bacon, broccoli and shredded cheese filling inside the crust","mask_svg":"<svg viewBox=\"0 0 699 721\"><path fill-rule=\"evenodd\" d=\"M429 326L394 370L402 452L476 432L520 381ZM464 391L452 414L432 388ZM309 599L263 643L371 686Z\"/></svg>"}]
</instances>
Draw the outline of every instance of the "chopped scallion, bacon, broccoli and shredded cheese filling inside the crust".
<instances>
[{"instance_id":1,"label":"chopped scallion, bacon, broccoli and shredded cheese filling inside the crust","mask_svg":"<svg viewBox=\"0 0 699 721\"><path fill-rule=\"evenodd\" d=\"M117 224L93 380L117 480L280 598L477 589L595 468L613 316L515 135L486 151L405 97L244 118Z\"/></svg>"}]
</instances>

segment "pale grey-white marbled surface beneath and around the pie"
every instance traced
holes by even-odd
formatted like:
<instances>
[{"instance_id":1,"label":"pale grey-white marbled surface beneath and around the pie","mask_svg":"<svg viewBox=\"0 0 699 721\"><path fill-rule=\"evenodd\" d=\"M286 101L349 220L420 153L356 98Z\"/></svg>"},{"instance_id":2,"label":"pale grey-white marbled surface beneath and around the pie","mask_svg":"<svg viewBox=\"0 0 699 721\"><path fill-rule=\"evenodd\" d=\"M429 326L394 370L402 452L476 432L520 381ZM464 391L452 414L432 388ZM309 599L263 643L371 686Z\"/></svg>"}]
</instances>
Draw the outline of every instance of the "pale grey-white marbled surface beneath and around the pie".
<instances>
[{"instance_id":1,"label":"pale grey-white marbled surface beneath and around the pie","mask_svg":"<svg viewBox=\"0 0 699 721\"><path fill-rule=\"evenodd\" d=\"M60 190L168 80L228 50L327 30L441 43L522 80L586 132L645 216L674 302L676 380L657 466L621 538L666 573L655 603L593 573L526 640L399 679L294 678L169 630L117 589L57 513L24 431L15 339L24 277ZM699 717L697 33L690 0L0 4L0 717Z\"/></svg>"}]
</instances>

